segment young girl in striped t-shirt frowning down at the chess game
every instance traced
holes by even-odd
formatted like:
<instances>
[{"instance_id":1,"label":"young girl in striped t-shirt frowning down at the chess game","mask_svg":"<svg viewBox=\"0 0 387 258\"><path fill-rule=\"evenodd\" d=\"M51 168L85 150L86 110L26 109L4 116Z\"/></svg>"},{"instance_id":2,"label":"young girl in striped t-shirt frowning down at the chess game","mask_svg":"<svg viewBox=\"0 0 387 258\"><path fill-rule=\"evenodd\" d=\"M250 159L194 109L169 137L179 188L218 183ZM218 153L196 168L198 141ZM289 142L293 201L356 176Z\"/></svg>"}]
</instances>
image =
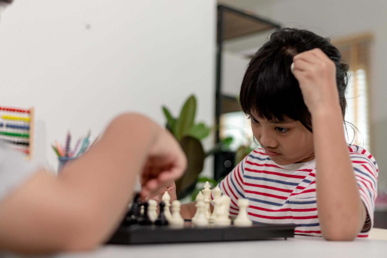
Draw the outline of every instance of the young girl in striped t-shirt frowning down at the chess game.
<instances>
[{"instance_id":1,"label":"young girl in striped t-shirt frowning down at the chess game","mask_svg":"<svg viewBox=\"0 0 387 258\"><path fill-rule=\"evenodd\" d=\"M329 240L368 236L378 167L365 149L346 143L348 65L340 58L329 39L288 28L273 32L252 58L240 103L261 148L219 183L231 197L231 217L238 198L247 198L255 222L300 224L295 234ZM183 217L194 215L194 205L182 206Z\"/></svg>"}]
</instances>

